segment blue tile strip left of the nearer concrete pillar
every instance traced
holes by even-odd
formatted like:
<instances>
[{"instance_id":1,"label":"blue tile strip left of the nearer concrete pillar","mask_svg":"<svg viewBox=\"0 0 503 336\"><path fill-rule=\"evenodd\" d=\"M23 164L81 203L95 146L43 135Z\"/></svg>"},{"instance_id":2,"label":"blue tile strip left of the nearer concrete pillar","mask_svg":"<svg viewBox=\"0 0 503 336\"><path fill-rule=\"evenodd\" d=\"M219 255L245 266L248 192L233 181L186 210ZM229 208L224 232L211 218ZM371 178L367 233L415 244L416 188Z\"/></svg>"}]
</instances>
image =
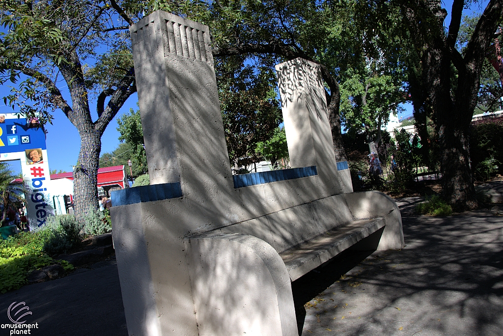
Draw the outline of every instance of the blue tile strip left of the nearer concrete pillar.
<instances>
[{"instance_id":1,"label":"blue tile strip left of the nearer concrete pillar","mask_svg":"<svg viewBox=\"0 0 503 336\"><path fill-rule=\"evenodd\" d=\"M140 186L112 192L112 206L167 200L182 197L180 182Z\"/></svg>"}]
</instances>

